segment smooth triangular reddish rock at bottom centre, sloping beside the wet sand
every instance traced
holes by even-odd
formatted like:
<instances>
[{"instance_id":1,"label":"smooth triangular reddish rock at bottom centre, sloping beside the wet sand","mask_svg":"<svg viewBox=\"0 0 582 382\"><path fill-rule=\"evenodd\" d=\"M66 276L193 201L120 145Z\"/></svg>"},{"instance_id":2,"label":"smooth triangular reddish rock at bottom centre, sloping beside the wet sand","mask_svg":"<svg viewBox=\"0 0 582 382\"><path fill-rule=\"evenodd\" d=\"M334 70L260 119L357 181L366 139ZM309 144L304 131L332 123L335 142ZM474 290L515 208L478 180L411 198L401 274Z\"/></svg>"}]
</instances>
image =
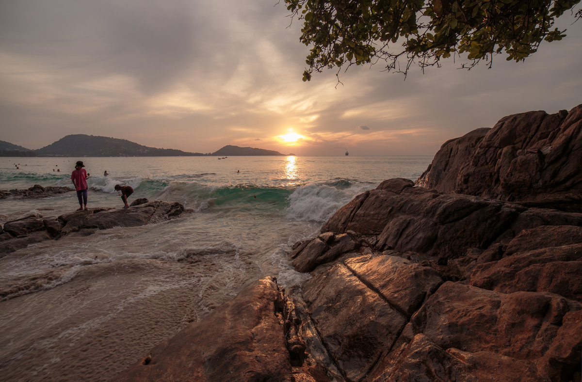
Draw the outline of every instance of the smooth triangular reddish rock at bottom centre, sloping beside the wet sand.
<instances>
[{"instance_id":1,"label":"smooth triangular reddish rock at bottom centre, sloping beside the wet sand","mask_svg":"<svg viewBox=\"0 0 582 382\"><path fill-rule=\"evenodd\" d=\"M292 382L281 298L274 280L257 280L113 381Z\"/></svg>"}]
</instances>

